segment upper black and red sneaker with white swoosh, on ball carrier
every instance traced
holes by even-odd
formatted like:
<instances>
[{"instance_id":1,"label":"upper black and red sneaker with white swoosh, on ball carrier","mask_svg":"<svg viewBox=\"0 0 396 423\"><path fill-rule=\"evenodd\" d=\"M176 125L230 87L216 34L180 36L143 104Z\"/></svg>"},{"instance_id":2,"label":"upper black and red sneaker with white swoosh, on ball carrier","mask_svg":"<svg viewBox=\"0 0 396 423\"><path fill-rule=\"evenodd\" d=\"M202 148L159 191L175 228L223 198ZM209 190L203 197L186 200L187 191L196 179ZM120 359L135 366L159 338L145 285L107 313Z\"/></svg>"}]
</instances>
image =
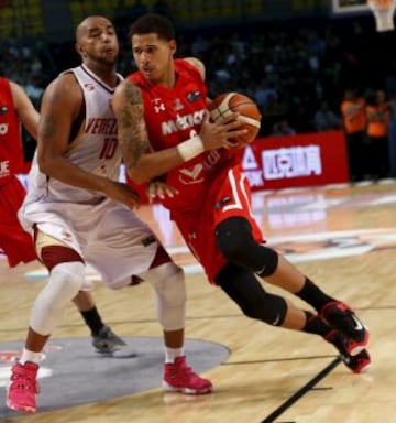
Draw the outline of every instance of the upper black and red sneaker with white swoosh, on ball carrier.
<instances>
[{"instance_id":1,"label":"upper black and red sneaker with white swoosh, on ball carrier","mask_svg":"<svg viewBox=\"0 0 396 423\"><path fill-rule=\"evenodd\" d=\"M369 343L369 329L344 303L333 301L320 311L320 316L330 326L349 337L348 355L356 356Z\"/></svg>"}]
</instances>

